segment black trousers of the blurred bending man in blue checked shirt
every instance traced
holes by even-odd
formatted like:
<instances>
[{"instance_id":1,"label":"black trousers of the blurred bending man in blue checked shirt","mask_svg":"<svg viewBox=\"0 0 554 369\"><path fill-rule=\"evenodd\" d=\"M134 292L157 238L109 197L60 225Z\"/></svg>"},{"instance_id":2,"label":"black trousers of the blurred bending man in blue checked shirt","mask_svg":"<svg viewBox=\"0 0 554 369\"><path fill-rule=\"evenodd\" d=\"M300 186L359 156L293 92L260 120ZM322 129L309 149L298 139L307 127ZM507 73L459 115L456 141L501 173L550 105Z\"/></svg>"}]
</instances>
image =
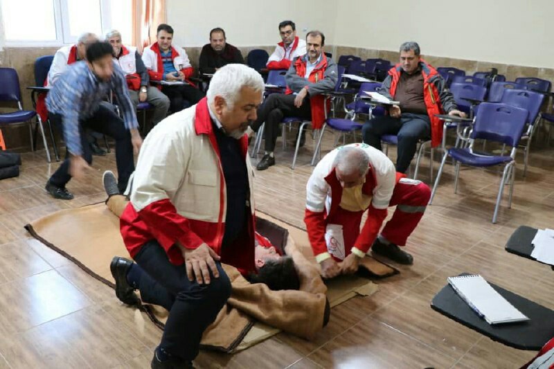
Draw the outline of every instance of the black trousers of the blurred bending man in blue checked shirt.
<instances>
[{"instance_id":1,"label":"black trousers of the blurred bending man in blue checked shirt","mask_svg":"<svg viewBox=\"0 0 554 369\"><path fill-rule=\"evenodd\" d=\"M60 114L48 114L50 121L62 130L62 116ZM132 172L134 172L133 145L131 143L131 134L125 127L123 120L116 114L114 109L108 103L101 103L96 113L87 120L79 122L79 134L81 139L82 157L87 163L92 163L92 152L85 131L93 131L107 134L116 140L116 165L118 172L118 188L123 193L127 188L127 182ZM71 180L69 174L69 156L66 152L66 158L60 168L52 174L50 182L58 187L65 187Z\"/></svg>"}]
</instances>

